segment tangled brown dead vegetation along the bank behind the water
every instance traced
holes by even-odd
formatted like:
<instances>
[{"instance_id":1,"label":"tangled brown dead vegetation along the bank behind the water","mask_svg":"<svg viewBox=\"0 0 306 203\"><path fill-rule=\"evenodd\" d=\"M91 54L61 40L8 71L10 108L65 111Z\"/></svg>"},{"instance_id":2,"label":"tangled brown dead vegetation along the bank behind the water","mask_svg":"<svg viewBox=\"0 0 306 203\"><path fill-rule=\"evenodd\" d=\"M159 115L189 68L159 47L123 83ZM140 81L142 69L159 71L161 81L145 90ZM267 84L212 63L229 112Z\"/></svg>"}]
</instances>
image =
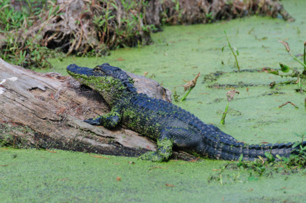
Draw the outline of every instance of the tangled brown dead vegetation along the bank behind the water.
<instances>
[{"instance_id":1,"label":"tangled brown dead vegetation along the bank behind the water","mask_svg":"<svg viewBox=\"0 0 306 203\"><path fill-rule=\"evenodd\" d=\"M149 44L151 31L162 24L209 23L252 14L294 20L278 0L57 0L49 11L32 16L33 25L19 30L17 38L21 47L31 40L66 54L105 55L109 49Z\"/></svg>"}]
</instances>

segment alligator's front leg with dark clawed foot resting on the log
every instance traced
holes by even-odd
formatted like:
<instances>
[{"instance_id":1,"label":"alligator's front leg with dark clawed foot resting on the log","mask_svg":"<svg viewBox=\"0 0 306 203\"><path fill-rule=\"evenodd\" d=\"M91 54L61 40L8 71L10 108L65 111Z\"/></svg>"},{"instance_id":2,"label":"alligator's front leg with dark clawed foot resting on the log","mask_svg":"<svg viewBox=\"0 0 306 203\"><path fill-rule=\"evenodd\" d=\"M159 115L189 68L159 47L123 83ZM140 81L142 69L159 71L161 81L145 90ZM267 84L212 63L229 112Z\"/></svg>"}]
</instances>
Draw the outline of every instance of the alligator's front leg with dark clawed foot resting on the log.
<instances>
[{"instance_id":1,"label":"alligator's front leg with dark clawed foot resting on the log","mask_svg":"<svg viewBox=\"0 0 306 203\"><path fill-rule=\"evenodd\" d=\"M83 121L92 125L103 125L107 128L113 128L120 122L121 115L119 112L120 111L117 107L113 107L110 112L105 113L96 119L89 118Z\"/></svg>"}]
</instances>

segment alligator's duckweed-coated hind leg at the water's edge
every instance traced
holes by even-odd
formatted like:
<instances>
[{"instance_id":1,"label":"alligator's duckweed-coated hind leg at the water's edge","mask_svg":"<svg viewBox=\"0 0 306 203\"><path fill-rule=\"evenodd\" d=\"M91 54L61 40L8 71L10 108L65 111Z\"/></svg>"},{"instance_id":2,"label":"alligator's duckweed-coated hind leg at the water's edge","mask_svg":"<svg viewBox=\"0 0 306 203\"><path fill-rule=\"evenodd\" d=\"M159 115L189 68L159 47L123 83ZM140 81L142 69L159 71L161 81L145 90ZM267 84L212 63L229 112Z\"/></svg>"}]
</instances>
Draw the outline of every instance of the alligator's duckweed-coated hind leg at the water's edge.
<instances>
[{"instance_id":1,"label":"alligator's duckweed-coated hind leg at the water's edge","mask_svg":"<svg viewBox=\"0 0 306 203\"><path fill-rule=\"evenodd\" d=\"M156 151L148 151L140 156L143 160L151 160L154 162L161 162L168 160L172 155L173 140L167 137L157 140Z\"/></svg>"}]
</instances>

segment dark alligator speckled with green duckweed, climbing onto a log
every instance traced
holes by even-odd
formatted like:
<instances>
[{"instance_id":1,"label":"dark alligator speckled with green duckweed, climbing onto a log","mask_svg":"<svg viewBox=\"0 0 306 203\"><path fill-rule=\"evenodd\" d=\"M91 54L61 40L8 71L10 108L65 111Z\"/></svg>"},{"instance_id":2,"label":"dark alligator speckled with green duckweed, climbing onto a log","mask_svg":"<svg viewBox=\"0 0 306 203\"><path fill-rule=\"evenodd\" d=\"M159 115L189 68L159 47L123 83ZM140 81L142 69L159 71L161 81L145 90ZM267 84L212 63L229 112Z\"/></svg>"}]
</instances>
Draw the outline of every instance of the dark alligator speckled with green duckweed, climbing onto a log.
<instances>
[{"instance_id":1,"label":"dark alligator speckled with green duckweed, climbing onto a log","mask_svg":"<svg viewBox=\"0 0 306 203\"><path fill-rule=\"evenodd\" d=\"M221 131L212 124L205 124L192 113L161 99L137 93L133 80L119 67L108 63L94 68L67 66L67 72L92 89L98 91L111 107L110 112L97 118L84 120L92 125L113 128L122 123L141 135L157 142L156 151L148 151L140 158L151 161L167 160L172 147L215 159L253 160L296 153L294 143L246 144ZM301 142L306 145L306 141ZM294 144L296 145L296 144ZM294 148L293 148L293 147ZM241 155L242 154L242 155Z\"/></svg>"}]
</instances>

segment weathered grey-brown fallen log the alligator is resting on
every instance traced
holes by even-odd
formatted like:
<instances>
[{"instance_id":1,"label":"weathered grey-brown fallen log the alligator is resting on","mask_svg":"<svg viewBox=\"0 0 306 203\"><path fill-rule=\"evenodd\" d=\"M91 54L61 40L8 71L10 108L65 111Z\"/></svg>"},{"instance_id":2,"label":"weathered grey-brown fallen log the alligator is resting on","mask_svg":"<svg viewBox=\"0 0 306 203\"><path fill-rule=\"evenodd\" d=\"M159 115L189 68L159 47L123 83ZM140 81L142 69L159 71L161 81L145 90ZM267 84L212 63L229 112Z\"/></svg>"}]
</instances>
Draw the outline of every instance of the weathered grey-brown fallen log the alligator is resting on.
<instances>
[{"instance_id":1,"label":"weathered grey-brown fallen log the alligator is resting on","mask_svg":"<svg viewBox=\"0 0 306 203\"><path fill-rule=\"evenodd\" d=\"M131 76L138 91L169 98L154 80ZM156 88L147 89L145 84ZM97 92L70 76L37 73L0 59L0 146L125 156L156 149L152 140L124 126L109 130L82 121L107 111L107 104ZM186 153L174 154L181 159L194 158Z\"/></svg>"}]
</instances>

